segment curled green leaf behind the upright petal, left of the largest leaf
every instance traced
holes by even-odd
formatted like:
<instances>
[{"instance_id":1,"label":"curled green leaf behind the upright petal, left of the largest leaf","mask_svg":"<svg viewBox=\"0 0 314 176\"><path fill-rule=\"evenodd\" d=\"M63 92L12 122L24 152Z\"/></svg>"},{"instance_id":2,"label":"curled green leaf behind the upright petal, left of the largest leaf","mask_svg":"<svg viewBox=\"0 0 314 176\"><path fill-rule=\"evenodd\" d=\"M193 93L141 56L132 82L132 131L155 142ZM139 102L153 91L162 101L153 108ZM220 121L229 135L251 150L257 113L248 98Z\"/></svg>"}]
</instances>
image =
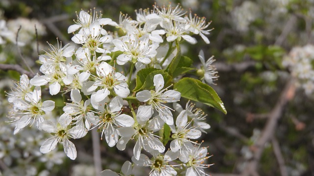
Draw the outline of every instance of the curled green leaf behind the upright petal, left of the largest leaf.
<instances>
[{"instance_id":1,"label":"curled green leaf behind the upright petal, left of the largest leaf","mask_svg":"<svg viewBox=\"0 0 314 176\"><path fill-rule=\"evenodd\" d=\"M163 77L163 80L165 81L164 88L170 86L172 77L165 72L164 70L155 70L152 71L150 74L147 75L145 82L143 86L140 89L154 89L154 76L157 74L161 74Z\"/></svg>"}]
</instances>

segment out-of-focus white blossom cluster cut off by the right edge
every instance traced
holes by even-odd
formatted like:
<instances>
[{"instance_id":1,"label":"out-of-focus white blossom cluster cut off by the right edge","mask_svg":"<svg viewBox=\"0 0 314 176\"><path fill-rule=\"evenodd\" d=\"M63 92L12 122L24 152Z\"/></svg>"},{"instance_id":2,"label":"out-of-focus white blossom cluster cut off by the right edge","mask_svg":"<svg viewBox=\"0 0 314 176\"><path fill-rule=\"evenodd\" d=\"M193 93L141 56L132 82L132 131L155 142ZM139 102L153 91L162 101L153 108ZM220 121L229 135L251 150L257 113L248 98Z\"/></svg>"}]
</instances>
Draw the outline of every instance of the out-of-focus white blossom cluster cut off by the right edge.
<instances>
[{"instance_id":1,"label":"out-of-focus white blossom cluster cut off by the right edge","mask_svg":"<svg viewBox=\"0 0 314 176\"><path fill-rule=\"evenodd\" d=\"M314 92L314 45L307 44L291 49L283 60L283 65L288 67L291 75L298 79L300 86L308 95Z\"/></svg>"}]
</instances>

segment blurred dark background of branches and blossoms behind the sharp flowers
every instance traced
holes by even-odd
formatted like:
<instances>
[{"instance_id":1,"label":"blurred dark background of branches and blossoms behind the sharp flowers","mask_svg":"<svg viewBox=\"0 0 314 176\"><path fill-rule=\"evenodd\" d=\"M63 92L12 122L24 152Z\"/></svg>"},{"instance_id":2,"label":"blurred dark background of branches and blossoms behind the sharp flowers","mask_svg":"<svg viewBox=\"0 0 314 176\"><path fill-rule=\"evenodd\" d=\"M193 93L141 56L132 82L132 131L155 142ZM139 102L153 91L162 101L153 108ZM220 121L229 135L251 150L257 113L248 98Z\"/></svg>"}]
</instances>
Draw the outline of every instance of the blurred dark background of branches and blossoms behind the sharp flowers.
<instances>
[{"instance_id":1,"label":"blurred dark background of branches and blossoms behind the sharp flowers","mask_svg":"<svg viewBox=\"0 0 314 176\"><path fill-rule=\"evenodd\" d=\"M56 38L65 45L76 11L96 7L104 18L119 21L119 12L136 18L135 9L153 8L152 0L1 0L0 63L34 70L39 54ZM168 0L156 0L168 5ZM212 176L314 176L314 0L172 0L184 10L212 21L210 44L196 36L183 54L199 62L214 55L219 78L214 83L227 114L197 104L208 113L211 128L202 139L209 146L207 172ZM3 21L6 23L3 24ZM6 25L15 31L7 36ZM36 29L35 30L35 26ZM19 26L21 29L19 30ZM19 38L16 33L19 30ZM37 35L36 35L37 33ZM37 36L37 37L36 37ZM195 36L194 36L195 37ZM17 47L17 45L19 47ZM19 51L20 50L20 51ZM88 134L75 140L78 158L60 152L40 154L45 134L31 128L13 135L5 92L20 73L0 70L0 171L3 176L94 176ZM62 103L62 102L59 102ZM201 139L201 140L202 140ZM104 169L119 170L125 152L101 141ZM130 151L129 151L130 152Z\"/></svg>"}]
</instances>

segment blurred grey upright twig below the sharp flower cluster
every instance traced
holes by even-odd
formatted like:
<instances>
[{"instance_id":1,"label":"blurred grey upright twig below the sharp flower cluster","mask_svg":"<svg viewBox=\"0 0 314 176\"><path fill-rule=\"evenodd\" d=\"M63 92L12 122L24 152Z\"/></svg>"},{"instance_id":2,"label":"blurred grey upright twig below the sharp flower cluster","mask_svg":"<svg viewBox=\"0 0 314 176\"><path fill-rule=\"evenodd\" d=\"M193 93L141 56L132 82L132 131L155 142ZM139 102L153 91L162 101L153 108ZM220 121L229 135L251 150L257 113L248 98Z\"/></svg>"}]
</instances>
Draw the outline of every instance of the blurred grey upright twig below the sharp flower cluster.
<instances>
[{"instance_id":1,"label":"blurred grey upright twig below the sharp flower cluster","mask_svg":"<svg viewBox=\"0 0 314 176\"><path fill-rule=\"evenodd\" d=\"M100 142L99 142L99 134L97 132L97 128L92 130L92 141L93 141L93 155L94 155L94 165L97 176L100 176L100 172L102 171L102 158L100 152Z\"/></svg>"}]
</instances>

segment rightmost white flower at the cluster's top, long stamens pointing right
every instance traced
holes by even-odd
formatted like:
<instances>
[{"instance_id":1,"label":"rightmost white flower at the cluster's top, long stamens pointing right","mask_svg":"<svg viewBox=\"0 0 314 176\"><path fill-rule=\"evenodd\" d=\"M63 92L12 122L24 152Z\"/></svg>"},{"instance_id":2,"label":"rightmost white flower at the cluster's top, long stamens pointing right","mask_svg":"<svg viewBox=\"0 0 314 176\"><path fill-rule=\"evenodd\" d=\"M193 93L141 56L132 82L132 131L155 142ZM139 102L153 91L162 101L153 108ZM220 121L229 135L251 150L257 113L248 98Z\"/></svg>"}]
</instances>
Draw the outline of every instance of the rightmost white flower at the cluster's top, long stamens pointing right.
<instances>
[{"instance_id":1,"label":"rightmost white flower at the cluster's top, long stamens pointing right","mask_svg":"<svg viewBox=\"0 0 314 176\"><path fill-rule=\"evenodd\" d=\"M204 35L209 35L209 31L211 31L212 29L208 29L208 30L204 30L206 29L209 23L206 23L206 18L200 18L198 16L196 16L196 14L194 14L194 17L192 17L191 12L189 14L188 17L185 17L185 19L187 20L188 24L187 24L187 28L189 31L193 32L194 34L199 34L202 39L205 41L206 44L209 44L209 39Z\"/></svg>"}]
</instances>

